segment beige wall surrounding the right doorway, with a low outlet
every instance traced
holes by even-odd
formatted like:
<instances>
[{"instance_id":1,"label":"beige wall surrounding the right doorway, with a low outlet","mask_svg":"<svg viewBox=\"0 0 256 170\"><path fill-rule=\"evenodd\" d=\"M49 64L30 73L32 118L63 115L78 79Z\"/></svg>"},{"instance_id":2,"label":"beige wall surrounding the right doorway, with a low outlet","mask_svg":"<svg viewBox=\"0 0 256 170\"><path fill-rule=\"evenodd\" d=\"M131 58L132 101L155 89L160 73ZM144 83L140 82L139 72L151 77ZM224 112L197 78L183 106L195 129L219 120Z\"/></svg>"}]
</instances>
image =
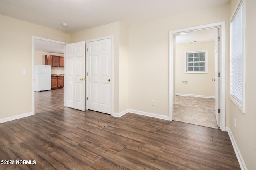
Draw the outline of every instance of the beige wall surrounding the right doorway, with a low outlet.
<instances>
[{"instance_id":1,"label":"beige wall surrounding the right doorway, with a low outlet","mask_svg":"<svg viewBox=\"0 0 256 170\"><path fill-rule=\"evenodd\" d=\"M169 31L226 21L228 40L229 18L226 4L129 27L129 108L169 116ZM228 55L226 41L226 62Z\"/></svg>"}]
</instances>

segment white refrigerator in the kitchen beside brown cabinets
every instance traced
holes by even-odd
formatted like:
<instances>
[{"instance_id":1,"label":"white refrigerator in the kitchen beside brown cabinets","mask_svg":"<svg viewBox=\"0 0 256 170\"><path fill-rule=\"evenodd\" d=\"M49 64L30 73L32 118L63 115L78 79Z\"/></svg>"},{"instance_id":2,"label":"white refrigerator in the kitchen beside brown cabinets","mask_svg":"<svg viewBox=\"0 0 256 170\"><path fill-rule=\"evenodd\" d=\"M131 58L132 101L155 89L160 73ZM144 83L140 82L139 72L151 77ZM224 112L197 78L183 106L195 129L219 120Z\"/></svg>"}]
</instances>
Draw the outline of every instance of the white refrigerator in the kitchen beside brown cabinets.
<instances>
[{"instance_id":1,"label":"white refrigerator in the kitchen beside brown cabinets","mask_svg":"<svg viewBox=\"0 0 256 170\"><path fill-rule=\"evenodd\" d=\"M51 66L35 65L35 92L51 90Z\"/></svg>"}]
</instances>

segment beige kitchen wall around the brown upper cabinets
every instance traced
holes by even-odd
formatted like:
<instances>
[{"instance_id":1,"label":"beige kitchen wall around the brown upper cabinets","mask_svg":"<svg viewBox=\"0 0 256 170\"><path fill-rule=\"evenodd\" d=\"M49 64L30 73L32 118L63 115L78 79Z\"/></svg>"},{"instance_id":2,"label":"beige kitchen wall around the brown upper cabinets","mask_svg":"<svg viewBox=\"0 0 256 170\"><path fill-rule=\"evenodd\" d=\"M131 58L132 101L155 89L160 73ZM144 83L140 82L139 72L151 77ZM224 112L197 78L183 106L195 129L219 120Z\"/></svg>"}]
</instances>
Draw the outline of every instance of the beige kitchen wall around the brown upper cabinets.
<instances>
[{"instance_id":1,"label":"beige kitchen wall around the brown upper cabinets","mask_svg":"<svg viewBox=\"0 0 256 170\"><path fill-rule=\"evenodd\" d=\"M64 54L35 51L35 65L44 65L45 55L57 55L64 57ZM52 74L64 74L64 67L52 67Z\"/></svg>"}]
</instances>

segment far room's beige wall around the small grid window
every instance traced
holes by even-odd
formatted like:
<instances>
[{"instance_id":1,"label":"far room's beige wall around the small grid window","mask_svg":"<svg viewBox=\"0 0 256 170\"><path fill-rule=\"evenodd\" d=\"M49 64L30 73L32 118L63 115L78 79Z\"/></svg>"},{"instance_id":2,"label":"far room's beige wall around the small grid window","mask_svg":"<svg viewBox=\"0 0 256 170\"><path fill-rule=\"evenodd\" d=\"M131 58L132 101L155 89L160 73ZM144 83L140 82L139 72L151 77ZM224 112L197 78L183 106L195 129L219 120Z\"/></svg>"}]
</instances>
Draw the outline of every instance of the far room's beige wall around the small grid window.
<instances>
[{"instance_id":1,"label":"far room's beige wall around the small grid window","mask_svg":"<svg viewBox=\"0 0 256 170\"><path fill-rule=\"evenodd\" d=\"M190 43L176 45L175 55L175 92L180 94L193 94L201 96L215 96L215 84L212 78L215 77L214 60L215 43ZM186 51L208 50L208 73L185 73ZM183 83L187 81L188 83Z\"/></svg>"}]
</instances>

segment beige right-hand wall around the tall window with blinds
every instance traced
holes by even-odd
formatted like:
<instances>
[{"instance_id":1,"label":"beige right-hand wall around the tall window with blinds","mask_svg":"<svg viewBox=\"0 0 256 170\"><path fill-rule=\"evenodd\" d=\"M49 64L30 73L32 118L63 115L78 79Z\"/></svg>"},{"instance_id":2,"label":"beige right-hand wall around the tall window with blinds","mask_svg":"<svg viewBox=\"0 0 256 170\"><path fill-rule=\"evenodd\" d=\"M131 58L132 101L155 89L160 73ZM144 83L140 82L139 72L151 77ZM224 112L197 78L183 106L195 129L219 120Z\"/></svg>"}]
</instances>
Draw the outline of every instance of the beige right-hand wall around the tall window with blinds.
<instances>
[{"instance_id":1,"label":"beige right-hand wall around the tall window with blinds","mask_svg":"<svg viewBox=\"0 0 256 170\"><path fill-rule=\"evenodd\" d=\"M238 0L231 1L231 13L234 11ZM248 170L256 170L256 79L255 79L255 37L256 37L256 1L246 0L246 92L245 113L231 101L230 102L230 130L232 131L242 158ZM236 127L234 127L236 118Z\"/></svg>"}]
</instances>

